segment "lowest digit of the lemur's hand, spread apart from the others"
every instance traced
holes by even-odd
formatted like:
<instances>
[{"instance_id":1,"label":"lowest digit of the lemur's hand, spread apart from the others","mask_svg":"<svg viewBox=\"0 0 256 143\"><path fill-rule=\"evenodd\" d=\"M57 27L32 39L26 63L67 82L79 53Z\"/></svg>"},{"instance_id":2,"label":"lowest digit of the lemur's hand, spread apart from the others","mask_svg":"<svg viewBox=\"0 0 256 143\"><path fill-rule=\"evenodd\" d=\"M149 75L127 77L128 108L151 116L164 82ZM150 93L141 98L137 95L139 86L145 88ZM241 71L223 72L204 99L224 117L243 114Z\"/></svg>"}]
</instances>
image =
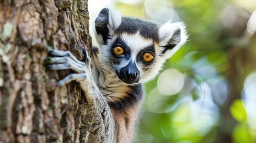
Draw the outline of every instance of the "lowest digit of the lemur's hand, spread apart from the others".
<instances>
[{"instance_id":1,"label":"lowest digit of the lemur's hand, spread apart from the others","mask_svg":"<svg viewBox=\"0 0 256 143\"><path fill-rule=\"evenodd\" d=\"M58 81L57 86L63 86L66 85L67 83L76 80L77 82L84 82L84 80L87 78L85 73L72 73L69 74L67 77L65 77L64 79Z\"/></svg>"}]
</instances>

